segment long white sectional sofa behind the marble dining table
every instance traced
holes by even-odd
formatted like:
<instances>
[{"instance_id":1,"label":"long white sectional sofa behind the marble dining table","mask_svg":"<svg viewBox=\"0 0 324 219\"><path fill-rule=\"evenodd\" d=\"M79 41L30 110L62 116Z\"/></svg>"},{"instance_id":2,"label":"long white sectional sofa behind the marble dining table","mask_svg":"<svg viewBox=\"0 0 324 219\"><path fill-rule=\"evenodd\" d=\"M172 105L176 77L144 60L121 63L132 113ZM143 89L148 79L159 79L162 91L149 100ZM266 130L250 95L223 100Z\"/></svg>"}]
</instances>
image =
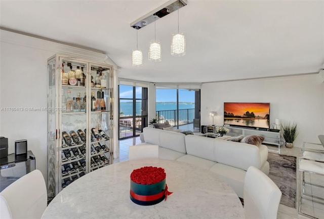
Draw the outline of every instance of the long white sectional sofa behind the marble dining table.
<instances>
[{"instance_id":1,"label":"long white sectional sofa behind the marble dining table","mask_svg":"<svg viewBox=\"0 0 324 219\"><path fill-rule=\"evenodd\" d=\"M159 158L177 160L209 169L243 198L245 174L250 166L269 173L266 145L253 145L151 127L141 133L141 144L159 145Z\"/></svg>"}]
</instances>

